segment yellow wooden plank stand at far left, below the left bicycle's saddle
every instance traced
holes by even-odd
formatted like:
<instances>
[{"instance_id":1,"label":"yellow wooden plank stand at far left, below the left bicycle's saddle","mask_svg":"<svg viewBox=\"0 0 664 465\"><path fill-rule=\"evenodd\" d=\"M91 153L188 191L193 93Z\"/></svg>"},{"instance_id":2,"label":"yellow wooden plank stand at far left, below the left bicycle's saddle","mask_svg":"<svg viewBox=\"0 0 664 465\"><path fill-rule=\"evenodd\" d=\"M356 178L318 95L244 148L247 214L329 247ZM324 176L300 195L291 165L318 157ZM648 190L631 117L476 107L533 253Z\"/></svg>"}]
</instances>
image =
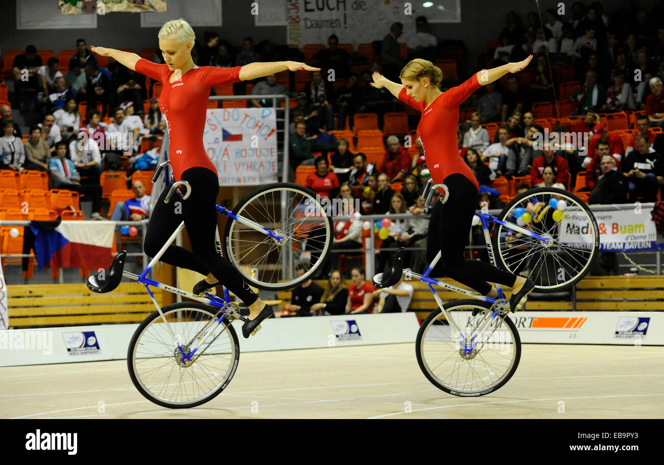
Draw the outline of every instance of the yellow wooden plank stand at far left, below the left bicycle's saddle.
<instances>
[{"instance_id":1,"label":"yellow wooden plank stand at far left, below the left bicycle's saddle","mask_svg":"<svg viewBox=\"0 0 664 465\"><path fill-rule=\"evenodd\" d=\"M155 299L161 305L161 292ZM7 286L9 326L64 326L137 323L155 306L143 285L121 283L109 294L95 294L83 283Z\"/></svg>"}]
</instances>

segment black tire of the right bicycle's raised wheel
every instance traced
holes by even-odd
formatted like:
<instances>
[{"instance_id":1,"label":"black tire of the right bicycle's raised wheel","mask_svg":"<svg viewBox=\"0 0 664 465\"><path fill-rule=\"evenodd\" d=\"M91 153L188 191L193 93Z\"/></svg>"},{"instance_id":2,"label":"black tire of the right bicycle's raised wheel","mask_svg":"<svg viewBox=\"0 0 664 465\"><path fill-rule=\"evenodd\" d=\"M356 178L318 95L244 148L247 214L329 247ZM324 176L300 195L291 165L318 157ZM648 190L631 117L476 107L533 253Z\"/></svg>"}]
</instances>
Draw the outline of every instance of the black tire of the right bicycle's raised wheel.
<instances>
[{"instance_id":1,"label":"black tire of the right bicycle's raised wheel","mask_svg":"<svg viewBox=\"0 0 664 465\"><path fill-rule=\"evenodd\" d=\"M527 190L526 192L523 192L513 198L501 211L499 216L497 218L499 220L503 220L507 223L511 223L511 218L515 218L513 215L513 211L515 210L516 206L523 206L527 204L527 200L532 199L533 197L539 197L540 199L546 200L544 203L548 203L548 200L550 197L555 196L556 198L565 198L566 202L569 203L569 201L573 202L573 204L576 204L576 210L574 210L574 213L576 212L582 212L584 214L585 220L587 220L592 227L592 237L586 237L588 241L588 246L589 249L587 251L588 255L586 256L586 253L580 253L580 251L577 251L577 249L573 249L571 247L566 247L564 244L559 243L560 246L556 245L556 249L559 249L556 253L549 253L548 255L546 254L545 247L542 247L542 257L544 257L544 260L542 261L542 264L540 264L540 275L535 275L533 274L534 269L531 271L531 275L529 275L529 278L533 280L535 283L535 289L539 292L542 293L553 293L553 292L562 292L562 291L567 291L570 289L572 286L574 286L576 283L581 281L584 276L588 273L590 270L590 267L592 267L592 264L594 261L597 259L599 255L599 249L600 249L600 233L599 229L597 226L597 221L595 219L594 214L588 208L588 205L572 194L572 192L568 192L566 190L558 189L558 188L552 188L552 187L541 187L541 188L535 188L531 190ZM526 201L526 202L524 202ZM570 207L567 207L568 209ZM570 210L567 210L569 212ZM547 214L548 215L548 214ZM563 220L558 220L555 223L558 223ZM542 222L543 224L544 222ZM531 225L533 222L531 222ZM562 223L560 224L560 228L562 228ZM519 265L513 265L510 263L510 258L513 261L515 260L514 256L510 255L510 251L515 250L514 245L523 245L527 249L528 247L531 247L531 245L535 244L540 244L538 241L535 243L535 239L529 239L530 241L533 241L533 243L528 244L526 239L519 239L523 240L523 244L519 244L517 242L513 242L510 247L507 247L507 241L503 243L501 241L501 232L504 230L507 230L508 228L505 228L499 224L494 224L493 225L493 234L491 237L491 243L493 245L493 250L495 252L495 257L496 257L496 264L500 269L503 269L505 271L509 271L510 273L515 273L519 274L519 267L523 266L521 262L523 262L523 259L527 258L529 255L526 255L519 261ZM581 228L579 228L581 229ZM592 243L590 243L592 242ZM501 248L501 245L505 245L505 247ZM539 247L539 245L537 245ZM580 249L578 249L580 250ZM572 252L574 251L574 252ZM528 252L527 252L528 253ZM570 255L577 263L580 263L578 267L580 269L575 269L577 266L575 263L568 263L564 261L564 263L560 263L560 261L557 260L557 256L559 253L566 253ZM531 255L531 257L535 256ZM548 257L551 257L550 259ZM535 262L535 265L540 263L540 258L537 259ZM532 261L532 259L529 259L527 264L525 265L526 267L529 266L529 262ZM548 263L547 263L548 261ZM555 262L555 263L554 263ZM558 268L556 268L556 264L558 265ZM535 267L534 267L535 268ZM562 273L560 273L560 270L562 270ZM546 271L546 280L544 279L544 271ZM548 273L548 271L552 271L552 273ZM570 273L570 271L574 271L574 274ZM527 274L527 270L523 271L524 274ZM570 278L566 279L567 275L570 275ZM563 278L560 278L562 276ZM552 279L551 277L554 277ZM555 281L554 281L555 280ZM546 282L545 282L546 281Z\"/></svg>"}]
</instances>

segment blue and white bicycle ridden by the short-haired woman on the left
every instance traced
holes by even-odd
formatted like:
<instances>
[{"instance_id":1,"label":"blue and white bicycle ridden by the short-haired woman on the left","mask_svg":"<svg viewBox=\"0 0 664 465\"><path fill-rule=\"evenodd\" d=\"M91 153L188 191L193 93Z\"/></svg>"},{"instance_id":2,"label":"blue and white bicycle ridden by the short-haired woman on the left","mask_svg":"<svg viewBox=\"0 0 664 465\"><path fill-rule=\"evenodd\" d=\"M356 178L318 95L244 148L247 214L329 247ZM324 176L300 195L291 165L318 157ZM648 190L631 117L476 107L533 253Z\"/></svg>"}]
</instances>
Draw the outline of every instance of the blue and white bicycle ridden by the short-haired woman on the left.
<instances>
[{"instance_id":1,"label":"blue and white bicycle ridden by the short-haired woman on the left","mask_svg":"<svg viewBox=\"0 0 664 465\"><path fill-rule=\"evenodd\" d=\"M168 163L159 165L152 182ZM174 182L171 176L166 203L174 192L187 200L191 186L186 181ZM216 231L216 251L224 255L223 244L226 257L254 287L290 289L309 279L327 258L333 237L331 219L308 188L288 182L268 184L250 192L233 211L218 205L216 210L228 218L223 242ZM231 323L246 321L225 287L223 297L210 292L194 295L147 277L184 227L185 222L181 222L140 275L124 271L126 251L122 251L109 269L87 281L88 289L96 293L113 291L122 277L145 285L157 310L133 333L127 368L133 385L146 399L173 409L196 407L226 388L240 358L238 336ZM291 263L304 265L305 273L298 276ZM161 308L150 287L196 302Z\"/></svg>"}]
</instances>

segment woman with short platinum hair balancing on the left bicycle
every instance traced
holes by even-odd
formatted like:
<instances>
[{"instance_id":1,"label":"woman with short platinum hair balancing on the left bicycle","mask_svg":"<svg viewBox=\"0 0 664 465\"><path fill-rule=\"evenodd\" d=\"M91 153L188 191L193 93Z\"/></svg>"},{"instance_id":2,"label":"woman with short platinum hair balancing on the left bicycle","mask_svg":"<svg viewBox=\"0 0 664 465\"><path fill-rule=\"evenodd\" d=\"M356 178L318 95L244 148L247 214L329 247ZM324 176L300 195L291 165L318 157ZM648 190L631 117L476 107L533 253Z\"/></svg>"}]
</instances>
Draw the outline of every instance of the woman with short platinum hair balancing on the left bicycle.
<instances>
[{"instance_id":1,"label":"woman with short platinum hair balancing on the left bicycle","mask_svg":"<svg viewBox=\"0 0 664 465\"><path fill-rule=\"evenodd\" d=\"M195 34L183 19L169 21L159 31L159 48L165 64L156 64L135 53L113 48L90 47L101 56L110 56L127 68L163 84L159 109L166 117L171 168L175 180L191 184L191 196L182 202L181 214L163 202L167 190L156 201L145 235L145 253L155 256L182 220L191 239L192 250L171 245L161 260L198 271L206 279L194 287L199 294L220 283L249 307L242 335L248 338L262 320L273 315L272 307L258 298L240 273L214 248L218 174L203 147L203 128L210 88L220 84L252 80L286 70L318 71L304 63L284 61L250 63L235 68L196 66L191 58ZM214 283L214 281L217 281Z\"/></svg>"}]
</instances>

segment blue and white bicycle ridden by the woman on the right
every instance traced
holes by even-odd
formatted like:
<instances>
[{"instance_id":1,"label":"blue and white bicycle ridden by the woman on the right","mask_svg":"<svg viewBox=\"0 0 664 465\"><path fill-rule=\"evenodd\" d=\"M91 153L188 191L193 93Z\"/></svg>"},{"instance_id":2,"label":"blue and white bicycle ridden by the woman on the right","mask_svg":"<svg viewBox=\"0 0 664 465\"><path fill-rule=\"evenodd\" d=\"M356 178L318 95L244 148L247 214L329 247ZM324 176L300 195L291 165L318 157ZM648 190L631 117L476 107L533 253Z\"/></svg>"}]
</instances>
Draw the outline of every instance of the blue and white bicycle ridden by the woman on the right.
<instances>
[{"instance_id":1,"label":"blue and white bicycle ridden by the woman on the right","mask_svg":"<svg viewBox=\"0 0 664 465\"><path fill-rule=\"evenodd\" d=\"M429 180L422 198L431 202L434 190L449 191ZM535 188L509 202L498 217L481 210L479 217L492 265L529 277L542 293L565 291L586 275L600 247L597 222L588 206L574 194L557 188ZM517 224L513 222L516 220ZM489 233L493 225L493 235ZM497 251L498 259L494 255ZM438 308L420 325L416 356L426 378L446 393L459 396L486 395L499 389L517 370L521 339L514 322L506 318L509 300L497 284L498 298L429 277L441 258L434 258L423 275L403 269L405 249L392 267L373 279L374 287L395 285L404 275L426 283ZM472 297L444 304L434 285Z\"/></svg>"}]
</instances>

